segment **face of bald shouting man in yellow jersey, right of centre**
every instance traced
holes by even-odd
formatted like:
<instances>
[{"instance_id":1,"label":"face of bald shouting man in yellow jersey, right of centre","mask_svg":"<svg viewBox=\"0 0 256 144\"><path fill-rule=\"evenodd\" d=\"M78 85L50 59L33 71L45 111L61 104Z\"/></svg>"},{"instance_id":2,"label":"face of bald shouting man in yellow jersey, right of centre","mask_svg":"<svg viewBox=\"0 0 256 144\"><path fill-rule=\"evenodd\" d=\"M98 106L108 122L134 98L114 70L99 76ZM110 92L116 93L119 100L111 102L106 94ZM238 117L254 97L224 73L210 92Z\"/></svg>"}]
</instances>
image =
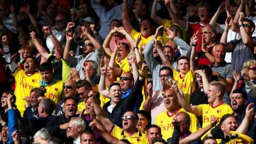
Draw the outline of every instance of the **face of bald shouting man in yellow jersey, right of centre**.
<instances>
[{"instance_id":1,"label":"face of bald shouting man in yellow jersey, right of centre","mask_svg":"<svg viewBox=\"0 0 256 144\"><path fill-rule=\"evenodd\" d=\"M179 101L176 93L172 89L168 89L164 93L164 105L168 110L174 110L179 107Z\"/></svg>"}]
</instances>

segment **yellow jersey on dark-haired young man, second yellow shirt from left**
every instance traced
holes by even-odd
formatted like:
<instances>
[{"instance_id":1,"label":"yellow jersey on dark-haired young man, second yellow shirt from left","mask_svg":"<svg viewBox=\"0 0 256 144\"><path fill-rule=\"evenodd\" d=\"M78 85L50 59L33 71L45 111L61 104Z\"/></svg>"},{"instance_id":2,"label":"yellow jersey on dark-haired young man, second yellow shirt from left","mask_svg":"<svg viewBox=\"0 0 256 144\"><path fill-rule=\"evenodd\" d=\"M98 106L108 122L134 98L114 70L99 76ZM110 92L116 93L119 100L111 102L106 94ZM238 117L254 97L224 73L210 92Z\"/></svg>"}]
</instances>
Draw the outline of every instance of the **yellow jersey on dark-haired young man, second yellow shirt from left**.
<instances>
[{"instance_id":1,"label":"yellow jersey on dark-haired young man, second yellow shirt from left","mask_svg":"<svg viewBox=\"0 0 256 144\"><path fill-rule=\"evenodd\" d=\"M35 87L40 87L40 85L40 83L36 83ZM53 100L55 104L58 104L64 97L63 82L60 80L57 80L54 84L46 85L45 89L44 98Z\"/></svg>"}]
</instances>

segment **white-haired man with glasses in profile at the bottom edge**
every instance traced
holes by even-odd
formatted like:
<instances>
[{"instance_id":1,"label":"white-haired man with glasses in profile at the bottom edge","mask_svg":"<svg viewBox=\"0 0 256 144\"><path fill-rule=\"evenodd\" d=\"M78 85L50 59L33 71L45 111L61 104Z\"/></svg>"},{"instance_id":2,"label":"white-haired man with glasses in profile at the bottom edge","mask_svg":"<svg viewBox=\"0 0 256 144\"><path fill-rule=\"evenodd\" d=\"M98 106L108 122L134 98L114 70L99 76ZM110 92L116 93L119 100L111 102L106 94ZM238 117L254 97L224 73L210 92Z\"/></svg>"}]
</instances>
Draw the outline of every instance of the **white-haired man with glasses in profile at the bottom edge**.
<instances>
[{"instance_id":1,"label":"white-haired man with glasses in profile at the bottom edge","mask_svg":"<svg viewBox=\"0 0 256 144\"><path fill-rule=\"evenodd\" d=\"M80 117L72 117L68 123L67 137L74 139L74 144L80 144L80 134L85 130L85 122Z\"/></svg>"}]
</instances>

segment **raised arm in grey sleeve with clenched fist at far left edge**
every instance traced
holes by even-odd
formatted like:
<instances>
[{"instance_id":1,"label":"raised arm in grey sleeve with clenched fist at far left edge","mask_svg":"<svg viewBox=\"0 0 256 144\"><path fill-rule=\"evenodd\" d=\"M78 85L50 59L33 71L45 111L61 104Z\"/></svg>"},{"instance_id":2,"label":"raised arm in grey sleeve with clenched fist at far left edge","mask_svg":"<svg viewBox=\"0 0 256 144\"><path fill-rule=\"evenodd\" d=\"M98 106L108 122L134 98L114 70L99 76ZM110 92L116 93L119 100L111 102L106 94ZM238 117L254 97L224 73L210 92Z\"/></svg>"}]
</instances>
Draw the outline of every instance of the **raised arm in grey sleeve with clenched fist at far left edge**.
<instances>
[{"instance_id":1,"label":"raised arm in grey sleeve with clenched fist at far left edge","mask_svg":"<svg viewBox=\"0 0 256 144\"><path fill-rule=\"evenodd\" d=\"M11 72L14 73L14 71L17 69L18 65L17 63L12 60L11 52L8 46L8 38L6 35L2 36L2 43L3 43L3 50L4 50L4 59L7 63L8 67L10 68Z\"/></svg>"}]
</instances>

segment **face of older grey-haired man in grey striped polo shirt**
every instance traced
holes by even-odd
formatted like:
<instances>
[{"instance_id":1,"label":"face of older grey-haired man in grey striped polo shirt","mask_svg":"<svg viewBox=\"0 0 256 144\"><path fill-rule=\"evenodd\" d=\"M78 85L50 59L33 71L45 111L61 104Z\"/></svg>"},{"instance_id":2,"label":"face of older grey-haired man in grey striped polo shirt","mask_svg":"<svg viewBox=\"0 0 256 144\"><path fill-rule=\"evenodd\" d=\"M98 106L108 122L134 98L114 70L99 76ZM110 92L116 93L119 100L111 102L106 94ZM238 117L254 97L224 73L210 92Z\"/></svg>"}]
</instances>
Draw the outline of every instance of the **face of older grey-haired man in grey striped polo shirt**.
<instances>
[{"instance_id":1,"label":"face of older grey-haired man in grey striped polo shirt","mask_svg":"<svg viewBox=\"0 0 256 144\"><path fill-rule=\"evenodd\" d=\"M222 63L225 60L225 47L222 44L215 45L215 49L213 51L214 61L218 64Z\"/></svg>"}]
</instances>

